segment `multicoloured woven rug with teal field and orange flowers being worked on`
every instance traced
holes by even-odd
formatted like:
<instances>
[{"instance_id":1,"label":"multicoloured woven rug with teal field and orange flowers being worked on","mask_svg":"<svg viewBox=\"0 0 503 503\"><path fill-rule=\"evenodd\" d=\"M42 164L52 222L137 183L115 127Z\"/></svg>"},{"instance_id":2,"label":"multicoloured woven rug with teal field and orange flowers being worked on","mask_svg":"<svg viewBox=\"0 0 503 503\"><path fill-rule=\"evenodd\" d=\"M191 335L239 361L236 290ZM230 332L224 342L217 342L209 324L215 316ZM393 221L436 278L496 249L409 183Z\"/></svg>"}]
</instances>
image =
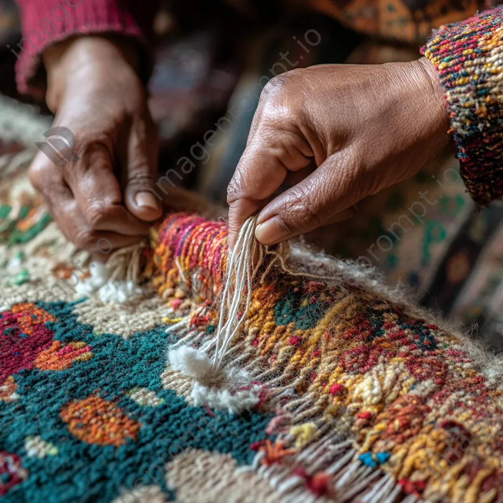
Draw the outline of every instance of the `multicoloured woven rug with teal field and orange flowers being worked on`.
<instances>
[{"instance_id":1,"label":"multicoloured woven rug with teal field and orange flowers being worked on","mask_svg":"<svg viewBox=\"0 0 503 503\"><path fill-rule=\"evenodd\" d=\"M374 272L293 247L208 384L225 222L170 215L102 267L49 222L30 151L10 155L2 500L503 499L501 363Z\"/></svg>"}]
</instances>

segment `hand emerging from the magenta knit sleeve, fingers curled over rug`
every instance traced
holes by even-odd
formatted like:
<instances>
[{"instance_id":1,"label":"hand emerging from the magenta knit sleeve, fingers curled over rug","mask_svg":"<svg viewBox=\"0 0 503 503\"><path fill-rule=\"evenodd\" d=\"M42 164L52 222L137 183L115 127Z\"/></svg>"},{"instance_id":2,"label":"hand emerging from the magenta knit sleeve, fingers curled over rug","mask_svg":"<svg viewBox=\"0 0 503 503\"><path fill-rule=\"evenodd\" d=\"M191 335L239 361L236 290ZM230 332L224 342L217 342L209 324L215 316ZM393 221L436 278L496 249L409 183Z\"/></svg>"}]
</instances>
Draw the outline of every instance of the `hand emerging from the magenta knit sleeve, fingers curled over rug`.
<instances>
[{"instance_id":1,"label":"hand emerging from the magenta knit sleeve, fingers curled over rug","mask_svg":"<svg viewBox=\"0 0 503 503\"><path fill-rule=\"evenodd\" d=\"M64 235L105 260L110 243L138 241L162 212L146 187L154 185L157 132L135 50L125 40L78 37L46 49L44 63L53 126L74 134L78 160L57 165L40 152L30 180Z\"/></svg>"}]
</instances>

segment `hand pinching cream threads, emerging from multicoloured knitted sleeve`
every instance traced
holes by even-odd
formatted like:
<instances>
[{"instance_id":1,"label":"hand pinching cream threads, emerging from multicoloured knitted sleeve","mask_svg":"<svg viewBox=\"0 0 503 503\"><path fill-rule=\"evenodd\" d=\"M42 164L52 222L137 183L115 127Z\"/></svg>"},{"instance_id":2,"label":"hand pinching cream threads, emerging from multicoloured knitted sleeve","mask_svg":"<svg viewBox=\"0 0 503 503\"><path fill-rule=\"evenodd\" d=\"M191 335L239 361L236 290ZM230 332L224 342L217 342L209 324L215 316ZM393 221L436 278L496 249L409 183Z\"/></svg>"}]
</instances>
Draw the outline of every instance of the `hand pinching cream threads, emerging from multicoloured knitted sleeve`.
<instances>
[{"instance_id":1,"label":"hand pinching cream threads, emerging from multicoloured knitted sleeve","mask_svg":"<svg viewBox=\"0 0 503 503\"><path fill-rule=\"evenodd\" d=\"M227 190L229 245L260 211L263 244L334 223L420 170L449 141L449 114L425 58L319 65L265 86ZM285 179L295 185L272 199Z\"/></svg>"}]
</instances>

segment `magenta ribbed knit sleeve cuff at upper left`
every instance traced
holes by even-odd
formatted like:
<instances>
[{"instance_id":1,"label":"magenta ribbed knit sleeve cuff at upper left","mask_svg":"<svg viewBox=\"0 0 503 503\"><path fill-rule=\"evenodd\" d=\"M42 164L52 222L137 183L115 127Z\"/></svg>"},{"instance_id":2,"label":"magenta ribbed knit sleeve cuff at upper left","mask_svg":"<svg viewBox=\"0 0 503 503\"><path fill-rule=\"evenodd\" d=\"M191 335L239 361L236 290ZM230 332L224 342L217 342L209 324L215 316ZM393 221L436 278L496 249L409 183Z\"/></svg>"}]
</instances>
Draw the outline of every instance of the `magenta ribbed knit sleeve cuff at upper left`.
<instances>
[{"instance_id":1,"label":"magenta ribbed knit sleeve cuff at upper left","mask_svg":"<svg viewBox=\"0 0 503 503\"><path fill-rule=\"evenodd\" d=\"M157 8L157 2L151 0L17 0L17 3L23 37L11 50L18 58L16 80L21 93L34 91L33 77L47 45L77 33L122 33L138 39L145 47L151 38Z\"/></svg>"}]
</instances>

